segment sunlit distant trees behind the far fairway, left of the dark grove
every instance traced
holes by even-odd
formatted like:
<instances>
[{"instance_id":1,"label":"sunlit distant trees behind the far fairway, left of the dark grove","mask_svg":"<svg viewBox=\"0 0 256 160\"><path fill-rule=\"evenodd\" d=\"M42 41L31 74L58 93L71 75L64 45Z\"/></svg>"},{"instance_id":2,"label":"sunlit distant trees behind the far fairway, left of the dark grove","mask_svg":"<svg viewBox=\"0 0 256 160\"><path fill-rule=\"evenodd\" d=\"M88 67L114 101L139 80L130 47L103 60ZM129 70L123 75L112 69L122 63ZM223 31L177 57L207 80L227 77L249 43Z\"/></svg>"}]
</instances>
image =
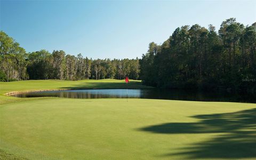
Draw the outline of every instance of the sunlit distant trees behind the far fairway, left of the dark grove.
<instances>
[{"instance_id":1,"label":"sunlit distant trees behind the far fairway, left of the dark grove","mask_svg":"<svg viewBox=\"0 0 256 160\"><path fill-rule=\"evenodd\" d=\"M79 53L52 53L41 50L27 53L19 43L0 31L0 81L26 79L138 79L139 59L89 59Z\"/></svg>"}]
</instances>

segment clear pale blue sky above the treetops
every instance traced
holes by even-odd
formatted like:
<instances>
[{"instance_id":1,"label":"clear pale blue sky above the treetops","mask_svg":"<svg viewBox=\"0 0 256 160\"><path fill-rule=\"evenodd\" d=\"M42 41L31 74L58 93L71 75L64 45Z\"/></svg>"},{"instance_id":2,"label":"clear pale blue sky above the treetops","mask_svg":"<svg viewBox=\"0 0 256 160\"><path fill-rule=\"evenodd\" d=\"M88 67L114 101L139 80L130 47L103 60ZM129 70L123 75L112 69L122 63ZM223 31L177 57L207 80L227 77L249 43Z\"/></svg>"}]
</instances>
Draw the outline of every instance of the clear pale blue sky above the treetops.
<instances>
[{"instance_id":1,"label":"clear pale blue sky above the treetops","mask_svg":"<svg viewBox=\"0 0 256 160\"><path fill-rule=\"evenodd\" d=\"M2 1L0 30L27 52L41 49L89 58L141 58L150 42L198 23L217 29L234 17L256 21L256 1Z\"/></svg>"}]
</instances>

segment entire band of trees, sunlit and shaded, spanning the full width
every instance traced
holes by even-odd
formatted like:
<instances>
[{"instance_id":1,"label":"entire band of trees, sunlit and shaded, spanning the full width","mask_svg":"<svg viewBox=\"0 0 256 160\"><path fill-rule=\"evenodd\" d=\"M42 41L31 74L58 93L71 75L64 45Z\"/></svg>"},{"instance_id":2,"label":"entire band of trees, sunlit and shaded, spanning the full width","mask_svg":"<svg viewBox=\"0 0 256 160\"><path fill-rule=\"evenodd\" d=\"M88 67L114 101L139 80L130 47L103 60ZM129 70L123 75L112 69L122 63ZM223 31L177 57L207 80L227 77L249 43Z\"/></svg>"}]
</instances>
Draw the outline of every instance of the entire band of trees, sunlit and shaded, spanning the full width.
<instances>
[{"instance_id":1,"label":"entire band of trees, sunlit and shaded, spanning the full width","mask_svg":"<svg viewBox=\"0 0 256 160\"><path fill-rule=\"evenodd\" d=\"M182 26L163 44L149 44L142 59L97 59L46 50L27 53L0 32L0 81L25 79L142 79L145 85L179 89L256 91L256 23L235 18L215 27Z\"/></svg>"}]
</instances>

